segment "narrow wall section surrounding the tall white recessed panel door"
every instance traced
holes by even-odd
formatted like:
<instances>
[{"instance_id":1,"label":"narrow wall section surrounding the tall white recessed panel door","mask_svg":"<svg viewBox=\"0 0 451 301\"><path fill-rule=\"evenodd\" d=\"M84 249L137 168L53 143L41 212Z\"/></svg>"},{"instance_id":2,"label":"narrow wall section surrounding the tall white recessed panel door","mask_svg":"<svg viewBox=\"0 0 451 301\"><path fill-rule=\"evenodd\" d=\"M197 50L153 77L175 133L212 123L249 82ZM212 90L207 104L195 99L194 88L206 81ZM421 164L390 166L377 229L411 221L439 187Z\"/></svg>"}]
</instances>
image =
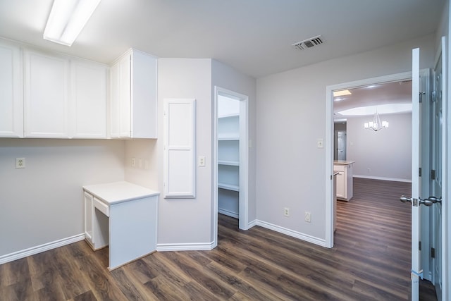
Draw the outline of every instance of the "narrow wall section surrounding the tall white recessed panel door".
<instances>
[{"instance_id":1,"label":"narrow wall section surrounding the tall white recessed panel door","mask_svg":"<svg viewBox=\"0 0 451 301\"><path fill-rule=\"evenodd\" d=\"M196 99L196 153L205 167L196 167L194 199L159 199L159 247L185 249L211 243L211 59L159 59L159 139L156 153L159 191L163 192L163 99Z\"/></svg>"}]
</instances>

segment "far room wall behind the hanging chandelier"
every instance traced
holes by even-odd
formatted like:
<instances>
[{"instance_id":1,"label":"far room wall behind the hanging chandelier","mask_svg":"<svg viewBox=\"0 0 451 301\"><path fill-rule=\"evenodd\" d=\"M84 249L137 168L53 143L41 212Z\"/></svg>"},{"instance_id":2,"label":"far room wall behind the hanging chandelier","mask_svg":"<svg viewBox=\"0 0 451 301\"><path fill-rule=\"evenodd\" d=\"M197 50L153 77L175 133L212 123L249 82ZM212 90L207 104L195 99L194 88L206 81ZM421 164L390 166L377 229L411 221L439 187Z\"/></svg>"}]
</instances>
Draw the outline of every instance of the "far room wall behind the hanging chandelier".
<instances>
[{"instance_id":1,"label":"far room wall behind the hanging chandelier","mask_svg":"<svg viewBox=\"0 0 451 301\"><path fill-rule=\"evenodd\" d=\"M373 116L347 118L347 160L354 176L381 180L412 180L412 113L380 115L389 128L366 130Z\"/></svg>"}]
</instances>

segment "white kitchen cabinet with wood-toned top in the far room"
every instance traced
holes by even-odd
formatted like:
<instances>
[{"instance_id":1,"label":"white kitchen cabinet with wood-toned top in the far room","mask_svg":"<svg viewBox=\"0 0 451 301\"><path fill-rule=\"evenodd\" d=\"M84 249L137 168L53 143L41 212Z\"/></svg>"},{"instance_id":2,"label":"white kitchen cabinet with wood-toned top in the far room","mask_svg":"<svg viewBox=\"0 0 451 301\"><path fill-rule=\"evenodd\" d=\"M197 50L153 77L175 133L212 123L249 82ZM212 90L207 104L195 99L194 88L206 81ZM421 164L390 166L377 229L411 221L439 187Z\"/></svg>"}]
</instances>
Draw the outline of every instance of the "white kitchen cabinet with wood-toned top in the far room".
<instances>
[{"instance_id":1,"label":"white kitchen cabinet with wood-toned top in the far room","mask_svg":"<svg viewBox=\"0 0 451 301\"><path fill-rule=\"evenodd\" d=\"M349 201L353 196L353 171L354 161L334 161L333 171L336 174L337 199Z\"/></svg>"}]
</instances>

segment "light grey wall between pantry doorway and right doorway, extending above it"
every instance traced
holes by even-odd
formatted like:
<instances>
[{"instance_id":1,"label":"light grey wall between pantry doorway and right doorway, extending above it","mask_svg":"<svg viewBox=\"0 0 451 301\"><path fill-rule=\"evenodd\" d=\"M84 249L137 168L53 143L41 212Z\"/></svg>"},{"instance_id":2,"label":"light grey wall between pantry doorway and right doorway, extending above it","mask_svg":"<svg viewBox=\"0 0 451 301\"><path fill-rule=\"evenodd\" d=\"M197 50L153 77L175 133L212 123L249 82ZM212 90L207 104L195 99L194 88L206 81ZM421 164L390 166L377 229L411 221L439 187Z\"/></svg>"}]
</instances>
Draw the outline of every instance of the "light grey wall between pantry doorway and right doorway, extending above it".
<instances>
[{"instance_id":1,"label":"light grey wall between pantry doorway and right doorway, extending above it","mask_svg":"<svg viewBox=\"0 0 451 301\"><path fill-rule=\"evenodd\" d=\"M428 35L258 79L257 219L325 240L325 161L332 146L319 149L316 141L326 135L326 86L407 72L414 47L421 47L420 67L431 67L434 45Z\"/></svg>"}]
</instances>

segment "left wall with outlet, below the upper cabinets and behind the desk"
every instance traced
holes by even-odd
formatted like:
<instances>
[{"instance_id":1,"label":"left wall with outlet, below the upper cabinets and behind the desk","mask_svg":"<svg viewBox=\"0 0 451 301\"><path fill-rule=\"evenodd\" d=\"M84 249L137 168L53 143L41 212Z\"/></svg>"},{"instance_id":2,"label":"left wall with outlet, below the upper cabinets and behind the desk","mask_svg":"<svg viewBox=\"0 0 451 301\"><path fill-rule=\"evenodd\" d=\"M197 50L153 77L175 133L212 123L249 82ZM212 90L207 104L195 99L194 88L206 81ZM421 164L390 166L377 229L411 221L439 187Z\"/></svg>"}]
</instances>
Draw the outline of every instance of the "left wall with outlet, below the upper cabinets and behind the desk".
<instances>
[{"instance_id":1,"label":"left wall with outlet, below the upper cabinets and behind the desk","mask_svg":"<svg viewBox=\"0 0 451 301\"><path fill-rule=\"evenodd\" d=\"M83 233L82 185L123 180L123 158L119 140L1 138L0 257Z\"/></svg>"}]
</instances>

